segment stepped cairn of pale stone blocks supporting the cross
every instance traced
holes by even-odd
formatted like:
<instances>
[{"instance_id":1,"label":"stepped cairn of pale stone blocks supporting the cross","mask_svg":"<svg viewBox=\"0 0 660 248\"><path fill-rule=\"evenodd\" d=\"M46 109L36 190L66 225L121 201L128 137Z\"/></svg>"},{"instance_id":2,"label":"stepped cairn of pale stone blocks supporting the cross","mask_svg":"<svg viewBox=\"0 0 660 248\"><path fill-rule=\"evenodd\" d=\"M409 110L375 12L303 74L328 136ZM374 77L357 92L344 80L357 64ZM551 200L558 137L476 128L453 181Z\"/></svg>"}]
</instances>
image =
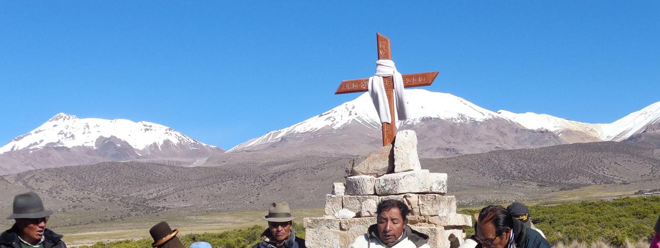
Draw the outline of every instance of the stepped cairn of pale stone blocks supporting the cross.
<instances>
[{"instance_id":1,"label":"stepped cairn of pale stone blocks supporting the cross","mask_svg":"<svg viewBox=\"0 0 660 248\"><path fill-rule=\"evenodd\" d=\"M394 146L387 145L349 162L346 184L334 183L325 195L323 218L304 218L306 246L347 247L376 224L380 201L397 199L411 209L408 224L429 236L430 247L458 247L471 216L456 213L456 197L446 195L447 174L422 170L417 136L412 130L397 133Z\"/></svg>"}]
</instances>

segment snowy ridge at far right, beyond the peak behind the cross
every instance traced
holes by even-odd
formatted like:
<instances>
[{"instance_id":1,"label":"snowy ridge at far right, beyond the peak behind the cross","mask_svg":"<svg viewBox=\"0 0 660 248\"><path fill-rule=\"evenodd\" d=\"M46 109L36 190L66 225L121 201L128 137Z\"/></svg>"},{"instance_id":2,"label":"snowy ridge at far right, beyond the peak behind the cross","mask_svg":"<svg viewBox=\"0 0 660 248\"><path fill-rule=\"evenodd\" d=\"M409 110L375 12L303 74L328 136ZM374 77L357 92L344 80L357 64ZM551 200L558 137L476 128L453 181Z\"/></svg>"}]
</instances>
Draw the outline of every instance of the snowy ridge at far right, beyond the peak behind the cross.
<instances>
[{"instance_id":1,"label":"snowy ridge at far right, beyond the peak behind the cross","mask_svg":"<svg viewBox=\"0 0 660 248\"><path fill-rule=\"evenodd\" d=\"M645 132L649 126L660 124L660 102L632 112L609 124L576 122L533 112L515 114L509 111L498 111L498 113L532 130L548 130L557 134L574 131L591 136L597 141L622 141L635 134Z\"/></svg>"}]
</instances>

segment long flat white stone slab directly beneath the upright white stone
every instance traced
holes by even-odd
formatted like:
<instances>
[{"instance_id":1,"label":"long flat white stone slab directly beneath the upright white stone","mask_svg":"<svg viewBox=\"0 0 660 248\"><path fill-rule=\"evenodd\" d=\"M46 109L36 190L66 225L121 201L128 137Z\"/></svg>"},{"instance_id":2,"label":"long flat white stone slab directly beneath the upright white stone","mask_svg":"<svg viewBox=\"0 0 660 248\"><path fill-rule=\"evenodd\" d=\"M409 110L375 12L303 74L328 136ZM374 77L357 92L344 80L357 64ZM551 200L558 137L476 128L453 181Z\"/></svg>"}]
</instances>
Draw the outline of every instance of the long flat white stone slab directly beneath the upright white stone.
<instances>
[{"instance_id":1,"label":"long flat white stone slab directly beneath the upright white stone","mask_svg":"<svg viewBox=\"0 0 660 248\"><path fill-rule=\"evenodd\" d=\"M385 174L376 179L376 194L398 195L402 193L447 193L447 174L413 170Z\"/></svg>"}]
</instances>

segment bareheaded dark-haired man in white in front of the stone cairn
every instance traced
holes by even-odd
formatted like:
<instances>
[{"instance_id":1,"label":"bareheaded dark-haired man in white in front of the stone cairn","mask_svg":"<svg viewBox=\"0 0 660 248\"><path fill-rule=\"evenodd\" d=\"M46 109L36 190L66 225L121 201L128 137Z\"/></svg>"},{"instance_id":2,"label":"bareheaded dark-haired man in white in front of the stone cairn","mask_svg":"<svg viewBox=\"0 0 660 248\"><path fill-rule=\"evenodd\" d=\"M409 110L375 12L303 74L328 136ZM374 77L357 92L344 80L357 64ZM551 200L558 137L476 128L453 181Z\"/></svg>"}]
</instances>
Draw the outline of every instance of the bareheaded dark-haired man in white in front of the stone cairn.
<instances>
[{"instance_id":1,"label":"bareheaded dark-haired man in white in front of the stone cairn","mask_svg":"<svg viewBox=\"0 0 660 248\"><path fill-rule=\"evenodd\" d=\"M408 206L397 200L381 201L376 207L376 224L355 238L348 248L393 247L429 248L428 236L408 226Z\"/></svg>"}]
</instances>

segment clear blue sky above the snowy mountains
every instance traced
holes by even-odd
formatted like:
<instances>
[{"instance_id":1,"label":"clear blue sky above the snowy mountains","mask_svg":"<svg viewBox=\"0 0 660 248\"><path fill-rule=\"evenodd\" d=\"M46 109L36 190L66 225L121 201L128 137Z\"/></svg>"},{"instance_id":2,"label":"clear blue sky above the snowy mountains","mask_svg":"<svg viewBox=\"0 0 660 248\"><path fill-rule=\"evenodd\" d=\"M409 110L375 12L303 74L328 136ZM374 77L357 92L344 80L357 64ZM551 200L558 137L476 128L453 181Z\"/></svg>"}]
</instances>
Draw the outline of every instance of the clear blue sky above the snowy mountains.
<instances>
[{"instance_id":1,"label":"clear blue sky above the snowy mountains","mask_svg":"<svg viewBox=\"0 0 660 248\"><path fill-rule=\"evenodd\" d=\"M58 112L229 149L402 73L497 111L612 122L660 101L660 1L0 1L0 143Z\"/></svg>"}]
</instances>

